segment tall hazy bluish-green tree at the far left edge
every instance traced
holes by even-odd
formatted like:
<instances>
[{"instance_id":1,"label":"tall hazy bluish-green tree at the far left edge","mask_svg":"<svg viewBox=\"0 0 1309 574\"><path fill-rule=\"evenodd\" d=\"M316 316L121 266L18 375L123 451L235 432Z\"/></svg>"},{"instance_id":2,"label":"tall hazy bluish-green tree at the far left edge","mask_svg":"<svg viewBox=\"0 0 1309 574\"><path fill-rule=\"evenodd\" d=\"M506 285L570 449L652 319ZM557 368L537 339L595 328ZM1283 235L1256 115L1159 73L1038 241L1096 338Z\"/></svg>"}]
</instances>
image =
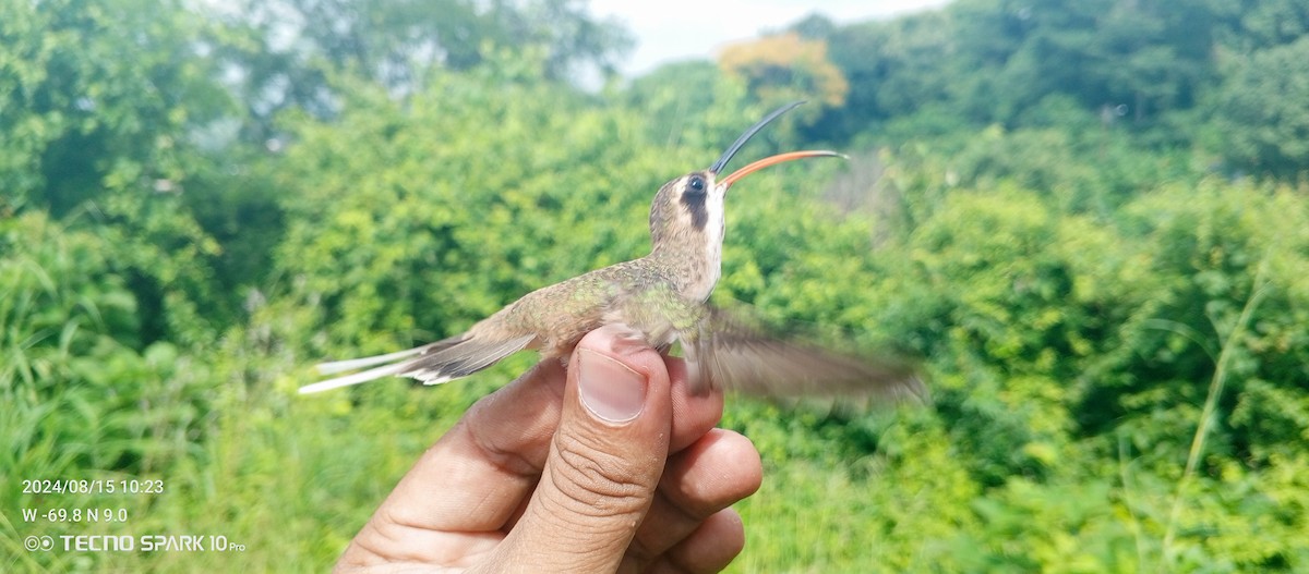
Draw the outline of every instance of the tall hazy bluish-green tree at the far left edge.
<instances>
[{"instance_id":1,"label":"tall hazy bluish-green tree at the far left edge","mask_svg":"<svg viewBox=\"0 0 1309 574\"><path fill-rule=\"evenodd\" d=\"M93 228L144 319L139 344L196 341L221 246L187 201L212 169L204 131L236 107L179 3L0 4L0 216ZM80 214L80 217L79 217Z\"/></svg>"}]
</instances>

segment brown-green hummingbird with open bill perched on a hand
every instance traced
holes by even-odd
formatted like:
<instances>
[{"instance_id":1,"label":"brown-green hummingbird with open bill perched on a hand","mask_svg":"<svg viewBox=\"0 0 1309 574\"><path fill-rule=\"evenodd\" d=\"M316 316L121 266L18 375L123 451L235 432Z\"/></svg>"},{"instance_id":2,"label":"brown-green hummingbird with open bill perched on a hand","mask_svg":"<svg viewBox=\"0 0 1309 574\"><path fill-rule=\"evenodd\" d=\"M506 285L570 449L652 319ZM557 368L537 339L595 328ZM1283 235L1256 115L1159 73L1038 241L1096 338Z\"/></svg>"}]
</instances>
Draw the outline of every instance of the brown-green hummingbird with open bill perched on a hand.
<instances>
[{"instance_id":1,"label":"brown-green hummingbird with open bill perched on a hand","mask_svg":"<svg viewBox=\"0 0 1309 574\"><path fill-rule=\"evenodd\" d=\"M321 363L317 369L323 375L350 374L301 387L300 392L391 375L439 384L524 349L567 362L584 335L619 323L630 329L627 337L661 353L677 344L695 394L736 390L771 397L863 395L889 403L925 403L927 390L910 361L839 354L771 337L708 303L721 275L728 188L778 163L844 157L830 150L788 152L719 178L755 133L801 103L792 102L766 115L708 169L660 187L651 205L649 255L537 289L448 339L376 357Z\"/></svg>"}]
</instances>

